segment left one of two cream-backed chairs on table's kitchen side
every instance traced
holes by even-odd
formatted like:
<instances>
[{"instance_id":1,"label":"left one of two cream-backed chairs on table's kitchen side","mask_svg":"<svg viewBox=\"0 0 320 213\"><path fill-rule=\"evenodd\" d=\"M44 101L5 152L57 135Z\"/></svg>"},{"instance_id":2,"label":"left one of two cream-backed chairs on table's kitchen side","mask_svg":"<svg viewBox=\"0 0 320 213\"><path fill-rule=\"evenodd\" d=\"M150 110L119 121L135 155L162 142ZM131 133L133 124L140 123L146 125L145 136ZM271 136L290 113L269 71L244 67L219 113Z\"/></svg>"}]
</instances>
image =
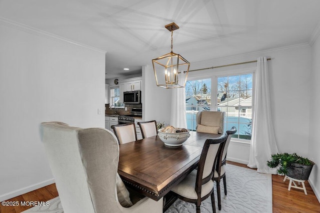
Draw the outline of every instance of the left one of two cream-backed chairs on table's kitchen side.
<instances>
[{"instance_id":1,"label":"left one of two cream-backed chairs on table's kitchen side","mask_svg":"<svg viewBox=\"0 0 320 213\"><path fill-rule=\"evenodd\" d=\"M134 123L112 125L111 128L118 139L119 144L136 141L136 130Z\"/></svg>"}]
</instances>

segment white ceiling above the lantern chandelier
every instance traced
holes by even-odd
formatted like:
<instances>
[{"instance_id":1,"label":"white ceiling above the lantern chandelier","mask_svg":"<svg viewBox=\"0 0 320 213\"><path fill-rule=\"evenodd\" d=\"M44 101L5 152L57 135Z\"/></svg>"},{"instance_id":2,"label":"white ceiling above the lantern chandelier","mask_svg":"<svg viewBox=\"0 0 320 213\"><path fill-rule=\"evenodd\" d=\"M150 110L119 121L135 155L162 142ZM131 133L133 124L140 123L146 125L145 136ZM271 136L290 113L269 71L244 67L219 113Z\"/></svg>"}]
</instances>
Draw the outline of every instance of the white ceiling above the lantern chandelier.
<instances>
[{"instance_id":1,"label":"white ceiling above the lantern chandelier","mask_svg":"<svg viewBox=\"0 0 320 213\"><path fill-rule=\"evenodd\" d=\"M170 52L190 63L310 42L320 0L0 0L0 17L107 51L106 78ZM130 71L123 71L123 68Z\"/></svg>"}]
</instances>

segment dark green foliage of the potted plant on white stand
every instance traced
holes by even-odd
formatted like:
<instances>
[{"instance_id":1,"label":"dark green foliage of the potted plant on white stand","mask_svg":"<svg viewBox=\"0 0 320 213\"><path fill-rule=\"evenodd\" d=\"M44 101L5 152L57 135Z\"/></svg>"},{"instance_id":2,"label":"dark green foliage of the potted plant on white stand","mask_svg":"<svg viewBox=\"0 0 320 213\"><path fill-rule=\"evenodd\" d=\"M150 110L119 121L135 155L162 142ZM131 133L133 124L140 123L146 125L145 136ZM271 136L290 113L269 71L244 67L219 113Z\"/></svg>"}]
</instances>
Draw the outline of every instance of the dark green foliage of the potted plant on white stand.
<instances>
[{"instance_id":1,"label":"dark green foliage of the potted plant on white stand","mask_svg":"<svg viewBox=\"0 0 320 213\"><path fill-rule=\"evenodd\" d=\"M298 156L296 153L272 154L271 160L267 161L266 164L270 168L277 168L277 172L279 174L286 175L287 167L290 167L292 163L302 164L302 165L312 165L312 162L309 159Z\"/></svg>"}]
</instances>

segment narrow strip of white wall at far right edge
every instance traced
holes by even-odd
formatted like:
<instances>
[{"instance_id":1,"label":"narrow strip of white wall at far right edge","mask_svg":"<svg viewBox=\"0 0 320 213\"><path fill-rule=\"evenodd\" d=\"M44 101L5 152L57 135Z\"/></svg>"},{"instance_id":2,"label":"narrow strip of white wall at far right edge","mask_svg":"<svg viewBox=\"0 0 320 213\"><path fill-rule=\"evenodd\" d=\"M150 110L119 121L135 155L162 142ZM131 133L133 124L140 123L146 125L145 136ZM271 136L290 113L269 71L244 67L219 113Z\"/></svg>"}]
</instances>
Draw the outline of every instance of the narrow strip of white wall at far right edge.
<instances>
[{"instance_id":1,"label":"narrow strip of white wall at far right edge","mask_svg":"<svg viewBox=\"0 0 320 213\"><path fill-rule=\"evenodd\" d=\"M320 37L312 44L312 72L310 96L310 129L308 157L315 163L309 177L309 183L320 202L320 142L318 128L320 128Z\"/></svg>"}]
</instances>

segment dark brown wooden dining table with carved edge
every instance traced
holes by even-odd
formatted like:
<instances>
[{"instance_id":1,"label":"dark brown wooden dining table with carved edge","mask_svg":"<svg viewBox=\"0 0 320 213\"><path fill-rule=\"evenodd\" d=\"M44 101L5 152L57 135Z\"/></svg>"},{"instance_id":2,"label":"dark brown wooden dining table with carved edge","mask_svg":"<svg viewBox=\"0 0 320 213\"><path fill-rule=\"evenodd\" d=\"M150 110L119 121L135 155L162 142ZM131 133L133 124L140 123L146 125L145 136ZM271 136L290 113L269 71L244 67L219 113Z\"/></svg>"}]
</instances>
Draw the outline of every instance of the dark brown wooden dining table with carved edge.
<instances>
[{"instance_id":1,"label":"dark brown wooden dining table with carved edge","mask_svg":"<svg viewBox=\"0 0 320 213\"><path fill-rule=\"evenodd\" d=\"M179 147L158 136L120 144L118 174L127 187L158 201L197 167L205 140L219 136L190 132Z\"/></svg>"}]
</instances>

